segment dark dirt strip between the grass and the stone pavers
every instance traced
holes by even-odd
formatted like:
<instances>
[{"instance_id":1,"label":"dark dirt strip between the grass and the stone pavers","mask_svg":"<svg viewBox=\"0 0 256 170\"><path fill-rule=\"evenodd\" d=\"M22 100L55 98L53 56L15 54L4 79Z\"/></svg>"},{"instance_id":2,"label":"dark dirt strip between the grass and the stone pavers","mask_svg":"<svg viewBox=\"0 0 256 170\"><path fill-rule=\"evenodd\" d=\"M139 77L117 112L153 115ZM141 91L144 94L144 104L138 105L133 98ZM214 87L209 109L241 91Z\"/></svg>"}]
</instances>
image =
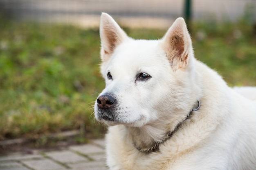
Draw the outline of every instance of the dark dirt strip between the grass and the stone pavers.
<instances>
[{"instance_id":1,"label":"dark dirt strip between the grass and the stone pavers","mask_svg":"<svg viewBox=\"0 0 256 170\"><path fill-rule=\"evenodd\" d=\"M103 138L103 135L99 136ZM49 150L63 150L70 145L86 144L95 137L81 135L79 131L69 131L40 136L37 139L11 139L0 141L0 156L12 153L35 154Z\"/></svg>"}]
</instances>

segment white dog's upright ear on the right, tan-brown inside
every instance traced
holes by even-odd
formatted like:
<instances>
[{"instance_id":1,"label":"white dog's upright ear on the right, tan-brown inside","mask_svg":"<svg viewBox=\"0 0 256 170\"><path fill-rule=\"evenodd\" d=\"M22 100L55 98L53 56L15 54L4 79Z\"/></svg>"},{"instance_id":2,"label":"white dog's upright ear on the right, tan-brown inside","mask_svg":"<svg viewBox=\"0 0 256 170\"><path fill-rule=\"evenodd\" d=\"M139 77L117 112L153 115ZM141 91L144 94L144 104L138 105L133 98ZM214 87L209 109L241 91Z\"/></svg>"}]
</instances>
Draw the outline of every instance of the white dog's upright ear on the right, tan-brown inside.
<instances>
[{"instance_id":1,"label":"white dog's upright ear on the right, tan-brown inside","mask_svg":"<svg viewBox=\"0 0 256 170\"><path fill-rule=\"evenodd\" d=\"M173 71L186 68L193 55L192 43L183 18L177 18L163 38L163 46Z\"/></svg>"}]
</instances>

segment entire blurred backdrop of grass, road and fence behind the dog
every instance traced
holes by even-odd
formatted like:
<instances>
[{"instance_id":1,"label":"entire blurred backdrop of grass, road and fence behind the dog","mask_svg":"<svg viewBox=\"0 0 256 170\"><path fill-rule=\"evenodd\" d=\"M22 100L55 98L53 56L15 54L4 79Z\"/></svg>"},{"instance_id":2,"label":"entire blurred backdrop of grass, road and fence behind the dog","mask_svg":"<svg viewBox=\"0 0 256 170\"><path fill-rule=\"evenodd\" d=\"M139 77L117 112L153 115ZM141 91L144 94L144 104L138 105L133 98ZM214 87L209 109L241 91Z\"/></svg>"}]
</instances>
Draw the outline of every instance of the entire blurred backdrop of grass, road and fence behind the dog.
<instances>
[{"instance_id":1,"label":"entire blurred backdrop of grass, road and fence behind the dog","mask_svg":"<svg viewBox=\"0 0 256 170\"><path fill-rule=\"evenodd\" d=\"M256 86L256 0L0 0L0 149L103 137L101 12L135 39L159 39L184 17L196 58L230 86Z\"/></svg>"}]
</instances>

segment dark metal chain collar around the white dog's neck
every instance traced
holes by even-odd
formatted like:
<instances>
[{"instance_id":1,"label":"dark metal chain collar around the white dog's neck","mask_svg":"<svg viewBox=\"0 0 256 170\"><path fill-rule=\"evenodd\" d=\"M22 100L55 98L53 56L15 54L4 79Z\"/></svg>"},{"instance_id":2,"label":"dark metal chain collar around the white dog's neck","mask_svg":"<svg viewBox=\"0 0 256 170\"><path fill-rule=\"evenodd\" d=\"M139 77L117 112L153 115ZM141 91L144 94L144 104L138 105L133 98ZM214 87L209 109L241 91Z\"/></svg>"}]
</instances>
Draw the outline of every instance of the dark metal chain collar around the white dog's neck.
<instances>
[{"instance_id":1,"label":"dark metal chain collar around the white dog's neck","mask_svg":"<svg viewBox=\"0 0 256 170\"><path fill-rule=\"evenodd\" d=\"M191 109L191 111L187 114L186 118L184 120L182 120L173 131L170 131L167 136L162 139L160 142L157 142L154 146L152 146L151 148L148 148L146 150L141 150L141 148L139 148L138 146L136 146L135 143L133 143L132 145L139 150L142 153L151 153L151 152L155 152L157 150L159 150L159 145L164 143L166 140L170 139L173 134L179 129L179 127L181 126L181 124L186 121L187 119L189 119L189 117L191 116L192 111L197 111L200 108L200 100L198 100L198 107L196 109Z\"/></svg>"}]
</instances>

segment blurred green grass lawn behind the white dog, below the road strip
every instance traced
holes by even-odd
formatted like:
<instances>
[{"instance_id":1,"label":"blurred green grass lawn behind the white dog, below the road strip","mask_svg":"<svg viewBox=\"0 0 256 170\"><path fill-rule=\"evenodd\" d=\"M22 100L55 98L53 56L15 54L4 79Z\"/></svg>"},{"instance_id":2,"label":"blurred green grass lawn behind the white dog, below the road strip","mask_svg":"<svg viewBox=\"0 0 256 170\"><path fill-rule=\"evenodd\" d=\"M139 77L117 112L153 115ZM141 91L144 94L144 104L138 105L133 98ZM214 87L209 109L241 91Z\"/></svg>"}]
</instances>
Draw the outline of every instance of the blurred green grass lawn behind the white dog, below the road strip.
<instances>
[{"instance_id":1,"label":"blurred green grass lawn behind the white dog, below the road strip","mask_svg":"<svg viewBox=\"0 0 256 170\"><path fill-rule=\"evenodd\" d=\"M0 28L0 139L79 128L93 137L104 133L93 114L104 88L99 30L3 18ZM124 29L136 39L159 39L166 32ZM193 23L195 57L231 86L255 86L253 31L245 20Z\"/></svg>"}]
</instances>

